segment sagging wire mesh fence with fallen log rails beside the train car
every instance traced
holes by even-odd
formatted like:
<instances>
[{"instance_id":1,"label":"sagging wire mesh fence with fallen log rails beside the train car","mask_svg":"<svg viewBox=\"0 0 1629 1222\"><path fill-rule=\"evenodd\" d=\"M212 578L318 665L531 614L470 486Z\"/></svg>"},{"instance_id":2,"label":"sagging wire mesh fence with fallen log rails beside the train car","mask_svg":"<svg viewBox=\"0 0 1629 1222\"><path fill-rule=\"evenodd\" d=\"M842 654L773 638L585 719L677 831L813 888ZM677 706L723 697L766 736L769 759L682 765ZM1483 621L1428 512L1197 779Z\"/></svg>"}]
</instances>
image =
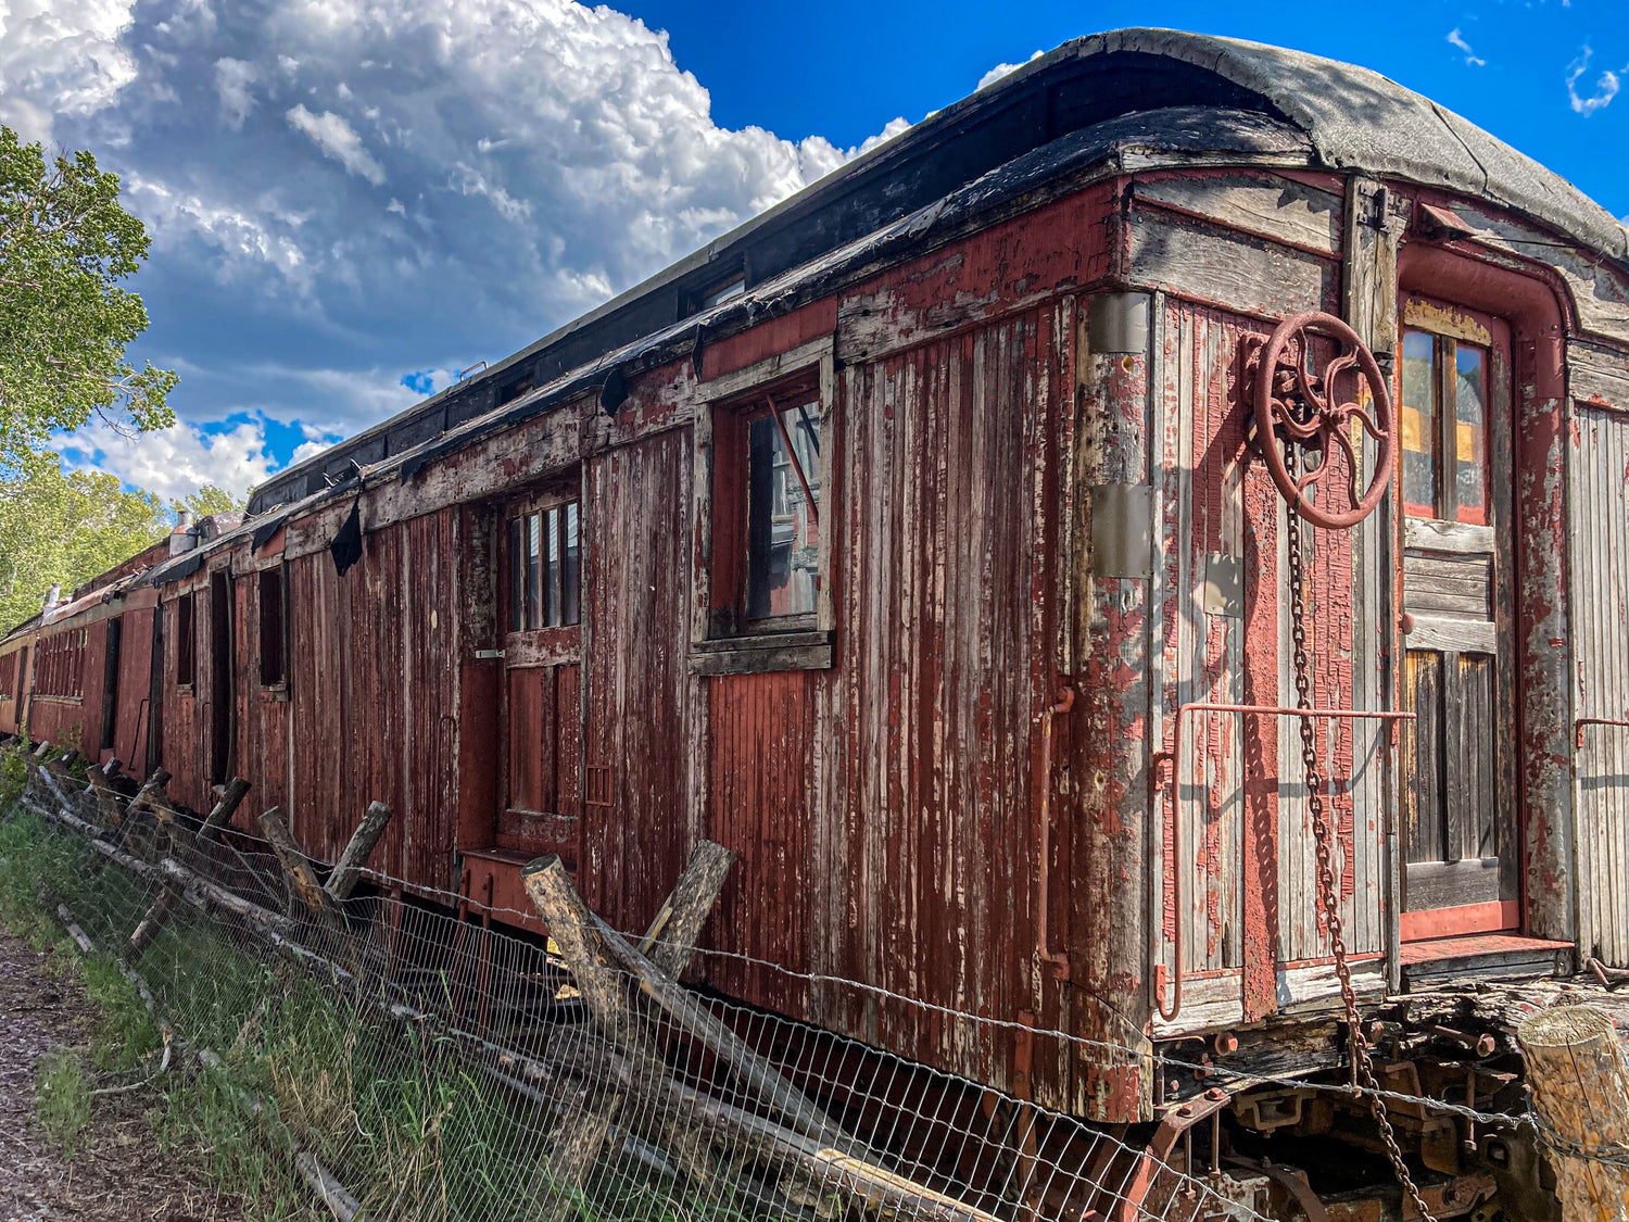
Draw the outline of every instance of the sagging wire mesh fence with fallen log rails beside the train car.
<instances>
[{"instance_id":1,"label":"sagging wire mesh fence with fallen log rails beside the train car","mask_svg":"<svg viewBox=\"0 0 1629 1222\"><path fill-rule=\"evenodd\" d=\"M1140 1145L652 966L691 948L578 979L567 947L629 947L586 909L544 940L389 893L313 903L264 841L26 766L7 903L60 906L145 996L137 1054L195 1075L171 1093L336 1217L1256 1217Z\"/></svg>"}]
</instances>

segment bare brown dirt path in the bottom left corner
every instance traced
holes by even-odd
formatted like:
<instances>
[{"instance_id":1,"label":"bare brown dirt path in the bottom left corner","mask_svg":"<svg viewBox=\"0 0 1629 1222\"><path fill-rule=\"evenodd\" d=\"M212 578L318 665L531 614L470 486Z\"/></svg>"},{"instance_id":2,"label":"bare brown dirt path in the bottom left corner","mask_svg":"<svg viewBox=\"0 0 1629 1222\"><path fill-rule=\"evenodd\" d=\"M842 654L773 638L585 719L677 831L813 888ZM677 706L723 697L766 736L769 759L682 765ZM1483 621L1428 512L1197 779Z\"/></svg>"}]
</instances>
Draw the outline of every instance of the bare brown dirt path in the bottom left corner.
<instances>
[{"instance_id":1,"label":"bare brown dirt path in the bottom left corner","mask_svg":"<svg viewBox=\"0 0 1629 1222\"><path fill-rule=\"evenodd\" d=\"M150 1090L94 1100L90 1129L64 1158L34 1113L34 1062L86 1043L88 1002L77 979L52 978L44 963L0 924L0 1222L239 1222L236 1201L158 1154Z\"/></svg>"}]
</instances>

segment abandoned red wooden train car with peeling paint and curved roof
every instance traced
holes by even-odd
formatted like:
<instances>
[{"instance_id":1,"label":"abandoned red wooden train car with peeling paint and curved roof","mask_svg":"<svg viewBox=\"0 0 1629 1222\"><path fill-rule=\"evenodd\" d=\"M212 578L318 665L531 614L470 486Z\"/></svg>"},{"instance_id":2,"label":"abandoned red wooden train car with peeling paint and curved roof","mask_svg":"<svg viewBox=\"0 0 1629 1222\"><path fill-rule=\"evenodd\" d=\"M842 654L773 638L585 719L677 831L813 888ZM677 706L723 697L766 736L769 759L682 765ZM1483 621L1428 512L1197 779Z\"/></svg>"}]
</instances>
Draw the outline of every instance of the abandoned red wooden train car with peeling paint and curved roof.
<instances>
[{"instance_id":1,"label":"abandoned red wooden train car with peeling paint and curved roof","mask_svg":"<svg viewBox=\"0 0 1629 1222\"><path fill-rule=\"evenodd\" d=\"M327 860L383 798L383 875L512 922L539 854L629 929L720 841L709 984L1140 1123L1152 1048L1337 1059L1339 969L1629 965L1626 476L1622 225L1372 72L1122 31L24 626L0 692L81 704L0 730Z\"/></svg>"}]
</instances>

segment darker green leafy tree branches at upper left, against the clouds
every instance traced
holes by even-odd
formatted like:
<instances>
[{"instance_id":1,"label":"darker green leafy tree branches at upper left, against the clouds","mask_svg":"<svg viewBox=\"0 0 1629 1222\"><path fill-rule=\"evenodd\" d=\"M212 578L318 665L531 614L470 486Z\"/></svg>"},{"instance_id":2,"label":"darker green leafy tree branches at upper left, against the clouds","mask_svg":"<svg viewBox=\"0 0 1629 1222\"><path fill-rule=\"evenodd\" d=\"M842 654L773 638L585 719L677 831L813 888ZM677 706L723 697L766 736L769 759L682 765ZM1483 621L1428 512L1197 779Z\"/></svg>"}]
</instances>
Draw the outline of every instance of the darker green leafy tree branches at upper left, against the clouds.
<instances>
[{"instance_id":1,"label":"darker green leafy tree branches at upper left, against the clouds","mask_svg":"<svg viewBox=\"0 0 1629 1222\"><path fill-rule=\"evenodd\" d=\"M0 127L0 474L93 415L127 430L174 422L176 375L125 360L147 308L119 282L147 246L117 174L88 152L47 160Z\"/></svg>"}]
</instances>

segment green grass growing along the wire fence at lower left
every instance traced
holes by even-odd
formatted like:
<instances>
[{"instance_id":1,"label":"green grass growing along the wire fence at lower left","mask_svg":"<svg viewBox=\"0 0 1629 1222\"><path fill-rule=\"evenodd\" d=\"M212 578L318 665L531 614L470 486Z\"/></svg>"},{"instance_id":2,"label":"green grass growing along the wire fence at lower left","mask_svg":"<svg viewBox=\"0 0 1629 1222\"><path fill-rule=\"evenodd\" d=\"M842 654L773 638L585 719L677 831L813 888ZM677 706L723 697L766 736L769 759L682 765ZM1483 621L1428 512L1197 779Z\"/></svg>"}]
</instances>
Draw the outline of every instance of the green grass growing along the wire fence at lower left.
<instances>
[{"instance_id":1,"label":"green grass growing along the wire fence at lower left","mask_svg":"<svg viewBox=\"0 0 1629 1222\"><path fill-rule=\"evenodd\" d=\"M0 784L15 774L11 756L0 749ZM77 971L93 1002L88 1057L54 1057L39 1077L41 1119L68 1147L90 1116L88 1079L145 1075L161 1038L117 966L64 937L39 904L41 885L64 898L98 950L124 945L151 895L78 837L34 815L7 818L0 805L0 917L47 950L54 969ZM290 1137L371 1217L518 1222L552 1204L544 1171L552 1119L497 1087L451 1041L378 1022L186 904L147 948L140 974L186 1044L223 1059L197 1072L178 1053L176 1070L155 1082L161 1106L148 1114L160 1149L199 1158L222 1191L246 1202L249 1219L311 1217L311 1193L283 1155ZM244 1108L249 1097L259 1114ZM580 1222L754 1214L728 1196L679 1198L671 1180L613 1160L572 1199Z\"/></svg>"}]
</instances>

